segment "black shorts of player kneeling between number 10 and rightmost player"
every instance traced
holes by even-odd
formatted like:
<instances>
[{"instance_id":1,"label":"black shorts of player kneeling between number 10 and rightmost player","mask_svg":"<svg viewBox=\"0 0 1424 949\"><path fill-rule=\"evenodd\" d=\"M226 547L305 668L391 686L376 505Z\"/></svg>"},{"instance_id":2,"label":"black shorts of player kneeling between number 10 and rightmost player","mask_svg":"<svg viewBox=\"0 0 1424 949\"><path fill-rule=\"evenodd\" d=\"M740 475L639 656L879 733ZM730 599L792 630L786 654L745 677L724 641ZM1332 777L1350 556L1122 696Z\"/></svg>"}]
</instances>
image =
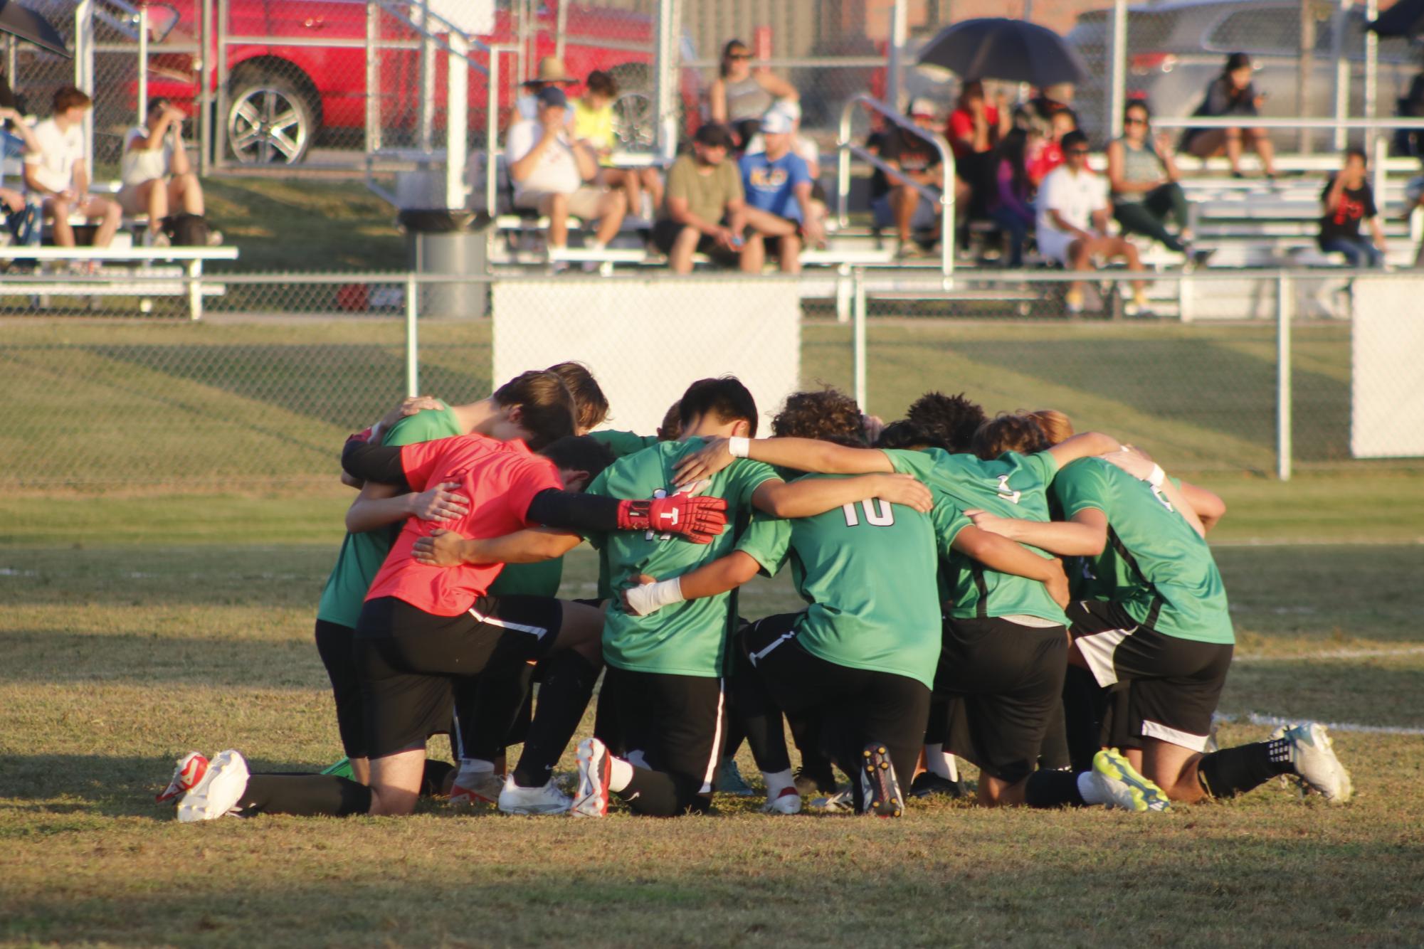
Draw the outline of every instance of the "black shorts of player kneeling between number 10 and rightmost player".
<instances>
[{"instance_id":1,"label":"black shorts of player kneeling between number 10 and rightmost player","mask_svg":"<svg viewBox=\"0 0 1424 949\"><path fill-rule=\"evenodd\" d=\"M1027 778L1062 701L1067 669L1062 626L947 619L934 674L934 693L951 699L947 750L1001 781Z\"/></svg>"}]
</instances>

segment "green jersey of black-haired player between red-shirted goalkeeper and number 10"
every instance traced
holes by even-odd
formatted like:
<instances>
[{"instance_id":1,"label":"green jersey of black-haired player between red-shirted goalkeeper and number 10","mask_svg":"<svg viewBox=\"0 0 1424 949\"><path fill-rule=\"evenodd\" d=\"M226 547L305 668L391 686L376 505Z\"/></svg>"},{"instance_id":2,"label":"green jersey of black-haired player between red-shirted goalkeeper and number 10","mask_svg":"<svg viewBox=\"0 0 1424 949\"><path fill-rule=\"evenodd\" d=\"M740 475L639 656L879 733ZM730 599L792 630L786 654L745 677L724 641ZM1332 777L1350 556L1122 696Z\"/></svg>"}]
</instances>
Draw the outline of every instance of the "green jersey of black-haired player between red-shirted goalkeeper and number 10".
<instances>
[{"instance_id":1,"label":"green jersey of black-haired player between red-shirted goalkeeper and number 10","mask_svg":"<svg viewBox=\"0 0 1424 949\"><path fill-rule=\"evenodd\" d=\"M666 491L676 464L705 444L702 438L661 441L614 462L594 479L588 494L648 498L655 491ZM745 526L752 494L773 478L776 472L769 465L743 458L715 474L703 494L726 498L728 524ZM728 529L712 544L692 544L676 536L665 541L662 535L649 536L641 531L591 534L588 541L607 556L608 579L617 590L627 588L628 578L637 573L662 580L725 556L736 546L738 532ZM748 553L762 565L770 559L755 548ZM609 666L632 672L719 677L735 620L733 593L685 600L651 616L632 616L624 610L621 599L612 598L604 619L604 659Z\"/></svg>"}]
</instances>

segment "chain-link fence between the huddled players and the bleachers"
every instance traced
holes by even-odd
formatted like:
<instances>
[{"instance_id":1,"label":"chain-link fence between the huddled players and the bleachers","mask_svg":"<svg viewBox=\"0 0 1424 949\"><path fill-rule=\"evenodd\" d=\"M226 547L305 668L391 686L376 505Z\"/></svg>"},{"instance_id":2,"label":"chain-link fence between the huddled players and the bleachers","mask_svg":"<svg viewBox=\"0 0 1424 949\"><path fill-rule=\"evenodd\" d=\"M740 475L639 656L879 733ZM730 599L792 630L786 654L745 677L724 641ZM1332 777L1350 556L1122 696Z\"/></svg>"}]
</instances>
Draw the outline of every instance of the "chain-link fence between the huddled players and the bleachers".
<instances>
[{"instance_id":1,"label":"chain-link fence between the huddled players and the bleachers","mask_svg":"<svg viewBox=\"0 0 1424 949\"><path fill-rule=\"evenodd\" d=\"M493 367L500 314L410 320L406 303L420 299L407 293L416 277L229 279L198 323L94 319L88 310L77 310L80 319L6 317L0 396L11 411L0 423L0 454L7 460L0 482L83 491L319 484L335 474L342 437L397 401L413 377L419 391L453 401L483 397L498 381ZM856 320L839 320L829 297L807 299L799 310L792 384L862 388L867 410L887 420L931 390L964 391L991 413L1058 408L1079 427L1151 445L1179 470L1272 474L1280 471L1282 447L1297 468L1358 464L1350 461L1351 361L1358 359L1351 324L1307 319L1293 283L1303 279L1266 275L1256 287L1266 310L1276 310L1274 295L1286 287L1296 319L1284 323L1125 320L1108 313L1069 320L1061 312L1049 319L1051 310L1022 319L1014 314L1024 299L1052 287L1018 280L961 282L948 292L931 283L918 290L871 287L859 359ZM728 277L728 286L736 286L733 280ZM642 283L581 276L560 282L587 286L588 299ZM496 299L507 300L510 313L498 332L513 334L506 343L547 333L545 324L524 319L543 306L547 280L501 286ZM627 314L648 317L662 320L666 313ZM1283 326L1290 330L1284 378ZM718 323L678 332L715 334ZM595 349L562 337L558 346L567 347L560 359ZM699 363L698 349L664 388L675 394L698 376L725 371L711 364L715 360ZM600 359L601 366L592 360L595 374L627 369L625 357ZM658 411L664 401L659 396ZM614 405L619 414L632 413Z\"/></svg>"}]
</instances>

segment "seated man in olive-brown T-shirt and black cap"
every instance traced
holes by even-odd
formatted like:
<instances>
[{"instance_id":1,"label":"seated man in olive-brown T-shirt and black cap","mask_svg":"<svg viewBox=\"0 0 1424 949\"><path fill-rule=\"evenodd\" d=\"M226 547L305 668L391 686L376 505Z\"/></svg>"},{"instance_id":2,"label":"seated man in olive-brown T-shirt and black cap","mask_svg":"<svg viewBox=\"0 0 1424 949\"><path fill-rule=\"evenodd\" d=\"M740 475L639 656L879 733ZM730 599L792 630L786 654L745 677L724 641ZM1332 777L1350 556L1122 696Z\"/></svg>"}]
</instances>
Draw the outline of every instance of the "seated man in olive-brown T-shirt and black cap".
<instances>
[{"instance_id":1,"label":"seated man in olive-brown T-shirt and black cap","mask_svg":"<svg viewBox=\"0 0 1424 949\"><path fill-rule=\"evenodd\" d=\"M692 137L692 154L668 169L665 216L652 228L652 243L668 255L674 273L691 273L693 253L738 260L749 273L762 269L765 249L743 233L746 201L731 149L732 132L709 122Z\"/></svg>"}]
</instances>

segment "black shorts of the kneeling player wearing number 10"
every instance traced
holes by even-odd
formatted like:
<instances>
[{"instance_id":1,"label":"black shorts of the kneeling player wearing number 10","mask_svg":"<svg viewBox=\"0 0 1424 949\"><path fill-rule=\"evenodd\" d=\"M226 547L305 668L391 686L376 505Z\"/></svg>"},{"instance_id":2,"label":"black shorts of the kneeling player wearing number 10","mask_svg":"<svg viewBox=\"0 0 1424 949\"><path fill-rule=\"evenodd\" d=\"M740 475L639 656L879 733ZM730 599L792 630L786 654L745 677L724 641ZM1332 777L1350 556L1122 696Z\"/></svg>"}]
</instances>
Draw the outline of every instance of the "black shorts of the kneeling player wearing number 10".
<instances>
[{"instance_id":1,"label":"black shorts of the kneeling player wearing number 10","mask_svg":"<svg viewBox=\"0 0 1424 949\"><path fill-rule=\"evenodd\" d=\"M879 741L889 748L896 775L909 784L924 744L930 690L909 676L813 656L796 642L803 616L779 613L752 623L738 633L738 649L782 711L822 717L820 750L846 774L857 774L860 751Z\"/></svg>"}]
</instances>

